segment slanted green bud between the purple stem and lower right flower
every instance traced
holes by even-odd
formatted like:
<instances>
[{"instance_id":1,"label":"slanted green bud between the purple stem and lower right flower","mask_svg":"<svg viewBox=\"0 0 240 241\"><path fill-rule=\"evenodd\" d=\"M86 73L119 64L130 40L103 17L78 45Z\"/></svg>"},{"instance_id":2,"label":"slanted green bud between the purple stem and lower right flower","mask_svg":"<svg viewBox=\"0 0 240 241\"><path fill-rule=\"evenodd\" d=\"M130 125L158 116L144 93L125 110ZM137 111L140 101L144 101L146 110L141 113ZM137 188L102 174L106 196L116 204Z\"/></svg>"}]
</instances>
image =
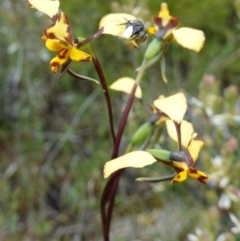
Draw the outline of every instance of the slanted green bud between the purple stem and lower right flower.
<instances>
[{"instance_id":1,"label":"slanted green bud between the purple stem and lower right flower","mask_svg":"<svg viewBox=\"0 0 240 241\"><path fill-rule=\"evenodd\" d=\"M135 132L132 138L132 146L136 146L147 139L152 131L153 125L150 122L146 122L141 125Z\"/></svg>"}]
</instances>

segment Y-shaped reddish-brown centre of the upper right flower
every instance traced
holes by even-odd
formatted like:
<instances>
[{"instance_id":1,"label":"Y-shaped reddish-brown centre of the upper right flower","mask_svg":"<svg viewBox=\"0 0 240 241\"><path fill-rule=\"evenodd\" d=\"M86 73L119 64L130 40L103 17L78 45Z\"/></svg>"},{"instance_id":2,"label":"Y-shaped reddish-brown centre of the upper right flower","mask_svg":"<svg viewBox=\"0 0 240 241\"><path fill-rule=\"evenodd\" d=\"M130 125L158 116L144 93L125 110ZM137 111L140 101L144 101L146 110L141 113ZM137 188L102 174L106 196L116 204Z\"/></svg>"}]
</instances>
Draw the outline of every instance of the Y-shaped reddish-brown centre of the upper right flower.
<instances>
[{"instance_id":1,"label":"Y-shaped reddish-brown centre of the upper right flower","mask_svg":"<svg viewBox=\"0 0 240 241\"><path fill-rule=\"evenodd\" d=\"M155 37L160 40L164 39L167 36L168 32L175 29L179 25L179 20L177 18L170 19L165 26L163 25L162 18L154 16L152 19L155 25L157 26L157 33Z\"/></svg>"}]
</instances>

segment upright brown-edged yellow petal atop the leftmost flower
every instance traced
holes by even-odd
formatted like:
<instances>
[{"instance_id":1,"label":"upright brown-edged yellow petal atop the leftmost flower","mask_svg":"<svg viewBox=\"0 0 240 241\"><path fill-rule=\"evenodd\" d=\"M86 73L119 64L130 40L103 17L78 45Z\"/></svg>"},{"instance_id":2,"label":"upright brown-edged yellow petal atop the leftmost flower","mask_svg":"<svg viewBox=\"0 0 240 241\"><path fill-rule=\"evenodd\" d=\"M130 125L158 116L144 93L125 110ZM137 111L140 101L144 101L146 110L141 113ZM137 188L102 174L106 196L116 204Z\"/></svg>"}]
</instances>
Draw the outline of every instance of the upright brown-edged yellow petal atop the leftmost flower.
<instances>
[{"instance_id":1,"label":"upright brown-edged yellow petal atop the leftmost flower","mask_svg":"<svg viewBox=\"0 0 240 241\"><path fill-rule=\"evenodd\" d=\"M47 39L57 39L64 43L73 46L74 40L69 27L67 15L63 12L58 14L55 22L44 30L44 35Z\"/></svg>"}]
</instances>

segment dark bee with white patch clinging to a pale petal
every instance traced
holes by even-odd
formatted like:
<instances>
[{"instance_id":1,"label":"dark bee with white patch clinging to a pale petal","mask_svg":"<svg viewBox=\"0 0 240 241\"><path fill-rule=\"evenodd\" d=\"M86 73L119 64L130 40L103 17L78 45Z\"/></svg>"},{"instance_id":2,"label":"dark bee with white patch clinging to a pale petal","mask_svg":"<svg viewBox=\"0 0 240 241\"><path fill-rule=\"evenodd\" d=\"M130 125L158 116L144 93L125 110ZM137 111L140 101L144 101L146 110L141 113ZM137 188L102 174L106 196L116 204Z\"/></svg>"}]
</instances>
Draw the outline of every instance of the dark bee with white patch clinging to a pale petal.
<instances>
[{"instance_id":1,"label":"dark bee with white patch clinging to a pale petal","mask_svg":"<svg viewBox=\"0 0 240 241\"><path fill-rule=\"evenodd\" d=\"M147 29L141 21L126 19L126 22L123 24L126 26L123 37L132 42L135 47L146 41L148 37Z\"/></svg>"}]
</instances>

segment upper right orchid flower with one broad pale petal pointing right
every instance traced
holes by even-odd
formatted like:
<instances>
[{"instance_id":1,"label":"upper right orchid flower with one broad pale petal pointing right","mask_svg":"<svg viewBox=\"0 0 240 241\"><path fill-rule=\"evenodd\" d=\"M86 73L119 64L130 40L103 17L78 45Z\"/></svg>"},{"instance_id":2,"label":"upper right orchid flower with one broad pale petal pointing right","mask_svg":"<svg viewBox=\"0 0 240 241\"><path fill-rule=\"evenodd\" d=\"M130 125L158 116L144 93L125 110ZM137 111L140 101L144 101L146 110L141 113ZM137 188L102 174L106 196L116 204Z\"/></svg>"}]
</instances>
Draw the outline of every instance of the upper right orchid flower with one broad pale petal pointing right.
<instances>
[{"instance_id":1,"label":"upper right orchid flower with one broad pale petal pointing right","mask_svg":"<svg viewBox=\"0 0 240 241\"><path fill-rule=\"evenodd\" d=\"M178 44L199 52L204 44L205 35L203 31L188 27L178 28L180 22L169 14L167 3L162 3L158 16L152 18L153 27L147 29L148 33L157 39L168 41L175 39Z\"/></svg>"}]
</instances>

